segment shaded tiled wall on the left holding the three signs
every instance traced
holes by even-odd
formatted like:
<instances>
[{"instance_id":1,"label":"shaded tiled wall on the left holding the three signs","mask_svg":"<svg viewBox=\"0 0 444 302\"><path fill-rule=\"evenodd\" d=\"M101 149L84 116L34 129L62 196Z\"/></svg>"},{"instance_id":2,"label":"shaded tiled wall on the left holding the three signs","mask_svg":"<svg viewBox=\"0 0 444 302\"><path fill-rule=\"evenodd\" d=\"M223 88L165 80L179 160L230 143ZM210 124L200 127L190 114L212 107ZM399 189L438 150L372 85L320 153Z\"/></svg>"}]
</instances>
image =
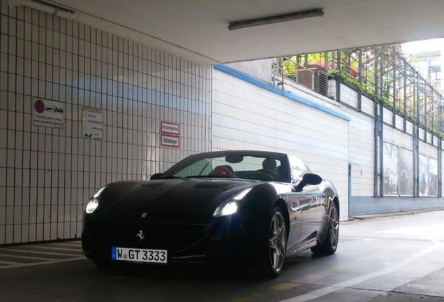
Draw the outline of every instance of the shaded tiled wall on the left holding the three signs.
<instances>
[{"instance_id":1,"label":"shaded tiled wall on the left holding the three signs","mask_svg":"<svg viewBox=\"0 0 444 302\"><path fill-rule=\"evenodd\" d=\"M0 245L80 237L107 182L146 179L212 148L212 68L0 2ZM65 127L34 126L34 98L64 103ZM82 107L102 109L103 141L82 138ZM160 122L180 125L161 148Z\"/></svg>"}]
</instances>

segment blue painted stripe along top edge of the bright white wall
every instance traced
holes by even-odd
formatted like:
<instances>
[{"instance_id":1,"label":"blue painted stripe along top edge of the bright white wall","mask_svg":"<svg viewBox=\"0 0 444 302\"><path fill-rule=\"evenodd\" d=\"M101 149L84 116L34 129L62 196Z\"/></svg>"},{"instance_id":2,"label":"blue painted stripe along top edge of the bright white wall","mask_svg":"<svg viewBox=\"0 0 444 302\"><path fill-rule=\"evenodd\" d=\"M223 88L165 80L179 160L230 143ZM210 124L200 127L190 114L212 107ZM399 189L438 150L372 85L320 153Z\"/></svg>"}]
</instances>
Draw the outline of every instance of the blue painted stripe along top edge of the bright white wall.
<instances>
[{"instance_id":1,"label":"blue painted stripe along top edge of the bright white wall","mask_svg":"<svg viewBox=\"0 0 444 302\"><path fill-rule=\"evenodd\" d=\"M272 85L269 85L265 82L262 82L260 80L257 80L255 78L251 78L251 76L246 75L244 73L240 73L239 71L235 71L234 69L230 69L230 67L227 67L225 65L213 65L214 69L217 69L219 71L223 71L224 73L228 73L232 76L235 76L236 78L239 78L241 80L244 80L246 82L249 82L253 85L262 87L264 89L267 89L271 92L274 92L276 94L281 94L281 96L285 96L288 99L293 99L295 101L298 101L299 103L304 103L305 105L311 106L313 108L316 108L318 110L324 111L326 113L330 113L331 115L334 115L336 117L341 117L341 119L343 120L347 120L348 122L350 122L350 117L346 116L346 115L342 115L341 113L337 113L334 110L331 110L329 108L326 108L324 106L321 106L317 103L313 103L312 101L306 100L306 99L302 99L299 96L295 96L294 94L290 94L288 92L284 92L283 90L273 87Z\"/></svg>"}]
</instances>

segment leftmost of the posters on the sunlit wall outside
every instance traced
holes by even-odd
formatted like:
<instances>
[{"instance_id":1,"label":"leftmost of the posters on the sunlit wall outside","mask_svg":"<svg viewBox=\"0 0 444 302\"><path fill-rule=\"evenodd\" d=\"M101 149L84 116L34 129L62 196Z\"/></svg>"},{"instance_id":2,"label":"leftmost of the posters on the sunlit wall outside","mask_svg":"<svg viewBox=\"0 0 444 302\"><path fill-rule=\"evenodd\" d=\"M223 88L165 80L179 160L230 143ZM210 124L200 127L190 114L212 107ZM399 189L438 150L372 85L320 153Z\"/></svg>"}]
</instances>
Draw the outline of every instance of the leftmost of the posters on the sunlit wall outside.
<instances>
[{"instance_id":1,"label":"leftmost of the posters on the sunlit wall outside","mask_svg":"<svg viewBox=\"0 0 444 302\"><path fill-rule=\"evenodd\" d=\"M385 142L384 195L398 195L398 146Z\"/></svg>"}]
</instances>

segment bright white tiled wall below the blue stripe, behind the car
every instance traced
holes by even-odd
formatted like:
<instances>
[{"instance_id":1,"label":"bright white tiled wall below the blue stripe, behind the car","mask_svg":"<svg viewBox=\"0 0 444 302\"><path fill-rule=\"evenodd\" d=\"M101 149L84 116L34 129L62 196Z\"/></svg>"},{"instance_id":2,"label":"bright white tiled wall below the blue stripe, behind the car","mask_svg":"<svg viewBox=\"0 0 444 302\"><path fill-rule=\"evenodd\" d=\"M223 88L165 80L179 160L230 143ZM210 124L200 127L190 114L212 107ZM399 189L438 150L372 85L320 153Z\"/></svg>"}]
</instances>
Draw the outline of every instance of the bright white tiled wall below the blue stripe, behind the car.
<instances>
[{"instance_id":1,"label":"bright white tiled wall below the blue stripe, behind the car","mask_svg":"<svg viewBox=\"0 0 444 302\"><path fill-rule=\"evenodd\" d=\"M332 180L348 219L348 121L213 70L213 150L270 150Z\"/></svg>"}]
</instances>

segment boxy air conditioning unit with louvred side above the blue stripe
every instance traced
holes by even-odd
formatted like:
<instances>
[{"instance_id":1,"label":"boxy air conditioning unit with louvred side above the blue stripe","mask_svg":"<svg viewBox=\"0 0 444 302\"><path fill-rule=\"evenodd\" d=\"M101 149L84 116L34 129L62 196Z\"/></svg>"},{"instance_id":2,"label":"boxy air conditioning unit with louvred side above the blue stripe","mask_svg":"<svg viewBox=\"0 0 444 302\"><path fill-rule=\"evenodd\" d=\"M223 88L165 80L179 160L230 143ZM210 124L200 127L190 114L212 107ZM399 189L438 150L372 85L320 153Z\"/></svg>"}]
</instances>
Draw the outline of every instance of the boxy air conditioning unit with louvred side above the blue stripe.
<instances>
[{"instance_id":1,"label":"boxy air conditioning unit with louvred side above the blue stripe","mask_svg":"<svg viewBox=\"0 0 444 302\"><path fill-rule=\"evenodd\" d=\"M327 96L328 75L327 71L318 65L306 65L297 69L297 83L303 85L318 94Z\"/></svg>"}]
</instances>

